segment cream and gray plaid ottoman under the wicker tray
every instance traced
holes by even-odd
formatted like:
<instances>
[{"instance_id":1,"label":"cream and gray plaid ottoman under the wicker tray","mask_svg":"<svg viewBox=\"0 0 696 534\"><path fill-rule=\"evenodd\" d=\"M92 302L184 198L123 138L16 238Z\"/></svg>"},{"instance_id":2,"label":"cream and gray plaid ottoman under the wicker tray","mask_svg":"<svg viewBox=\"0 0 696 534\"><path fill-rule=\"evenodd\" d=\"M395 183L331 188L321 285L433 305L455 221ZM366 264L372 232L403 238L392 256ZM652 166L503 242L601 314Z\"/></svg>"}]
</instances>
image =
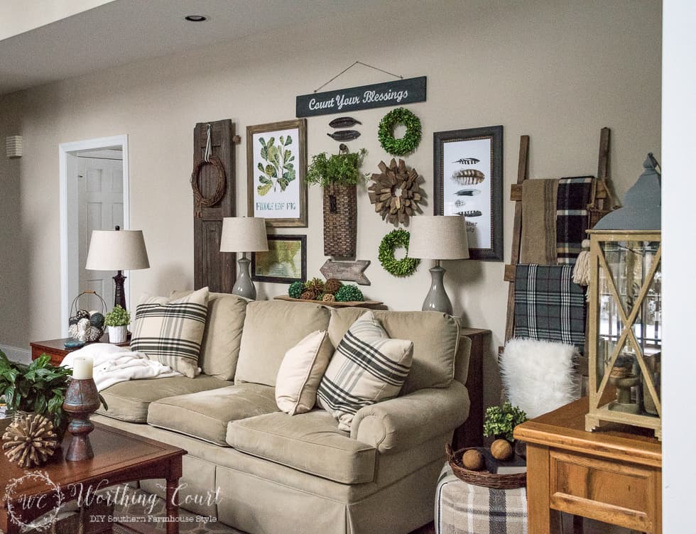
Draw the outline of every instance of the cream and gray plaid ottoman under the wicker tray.
<instances>
[{"instance_id":1,"label":"cream and gray plaid ottoman under the wicker tray","mask_svg":"<svg viewBox=\"0 0 696 534\"><path fill-rule=\"evenodd\" d=\"M527 489L474 486L440 472L435 490L436 534L527 534Z\"/></svg>"}]
</instances>

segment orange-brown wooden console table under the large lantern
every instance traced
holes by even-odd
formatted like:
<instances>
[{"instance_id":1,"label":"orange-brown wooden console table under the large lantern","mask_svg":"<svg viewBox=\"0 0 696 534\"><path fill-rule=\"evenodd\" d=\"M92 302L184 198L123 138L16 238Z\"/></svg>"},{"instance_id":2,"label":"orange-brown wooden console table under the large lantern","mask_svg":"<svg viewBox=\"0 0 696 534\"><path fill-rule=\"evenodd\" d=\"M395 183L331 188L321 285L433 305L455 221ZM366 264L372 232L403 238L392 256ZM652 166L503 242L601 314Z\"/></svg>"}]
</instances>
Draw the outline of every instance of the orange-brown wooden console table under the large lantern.
<instances>
[{"instance_id":1,"label":"orange-brown wooden console table under the large lantern","mask_svg":"<svg viewBox=\"0 0 696 534\"><path fill-rule=\"evenodd\" d=\"M586 432L587 410L585 397L515 429L527 442L529 532L552 532L567 512L662 533L660 442L621 425Z\"/></svg>"}]
</instances>

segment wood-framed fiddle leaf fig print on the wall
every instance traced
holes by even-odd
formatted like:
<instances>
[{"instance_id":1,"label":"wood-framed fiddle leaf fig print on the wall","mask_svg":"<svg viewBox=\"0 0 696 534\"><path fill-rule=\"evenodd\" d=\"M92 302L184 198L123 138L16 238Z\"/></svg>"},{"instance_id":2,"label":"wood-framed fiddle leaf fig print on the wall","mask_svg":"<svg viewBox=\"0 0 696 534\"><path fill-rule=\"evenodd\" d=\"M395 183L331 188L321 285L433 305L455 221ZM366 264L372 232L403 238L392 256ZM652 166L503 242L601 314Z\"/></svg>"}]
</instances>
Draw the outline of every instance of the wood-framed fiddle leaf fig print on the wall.
<instances>
[{"instance_id":1,"label":"wood-framed fiddle leaf fig print on the wall","mask_svg":"<svg viewBox=\"0 0 696 534\"><path fill-rule=\"evenodd\" d=\"M246 126L246 214L307 227L307 119Z\"/></svg>"}]
</instances>

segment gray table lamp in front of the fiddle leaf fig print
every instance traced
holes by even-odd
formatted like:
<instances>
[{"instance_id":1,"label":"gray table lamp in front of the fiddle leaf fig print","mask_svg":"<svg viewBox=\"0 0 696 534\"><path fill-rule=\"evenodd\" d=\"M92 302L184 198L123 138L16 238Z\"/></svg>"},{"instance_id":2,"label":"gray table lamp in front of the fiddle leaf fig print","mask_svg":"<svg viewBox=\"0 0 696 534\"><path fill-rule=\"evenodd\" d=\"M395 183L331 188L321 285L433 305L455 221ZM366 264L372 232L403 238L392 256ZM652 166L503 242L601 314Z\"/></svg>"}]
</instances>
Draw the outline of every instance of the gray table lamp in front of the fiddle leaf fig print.
<instances>
[{"instance_id":1,"label":"gray table lamp in front of the fiddle leaf fig print","mask_svg":"<svg viewBox=\"0 0 696 534\"><path fill-rule=\"evenodd\" d=\"M232 293L240 297L256 300L256 288L251 281L247 252L263 252L268 250L266 239L266 219L259 217L225 217L222 219L222 237L220 252L241 252L237 260L239 273Z\"/></svg>"}]
</instances>

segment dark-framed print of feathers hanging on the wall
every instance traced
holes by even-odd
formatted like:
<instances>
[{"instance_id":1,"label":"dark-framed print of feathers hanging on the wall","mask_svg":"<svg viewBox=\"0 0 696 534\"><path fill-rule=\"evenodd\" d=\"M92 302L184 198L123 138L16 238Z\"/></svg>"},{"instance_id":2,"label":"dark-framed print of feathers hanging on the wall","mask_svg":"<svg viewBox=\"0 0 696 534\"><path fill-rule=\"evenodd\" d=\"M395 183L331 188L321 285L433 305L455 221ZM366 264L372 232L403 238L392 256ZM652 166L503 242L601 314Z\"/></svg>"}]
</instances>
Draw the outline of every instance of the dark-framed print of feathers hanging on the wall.
<instances>
[{"instance_id":1,"label":"dark-framed print of feathers hanging on the wall","mask_svg":"<svg viewBox=\"0 0 696 534\"><path fill-rule=\"evenodd\" d=\"M435 215L464 215L469 258L503 261L503 126L436 131Z\"/></svg>"}]
</instances>

